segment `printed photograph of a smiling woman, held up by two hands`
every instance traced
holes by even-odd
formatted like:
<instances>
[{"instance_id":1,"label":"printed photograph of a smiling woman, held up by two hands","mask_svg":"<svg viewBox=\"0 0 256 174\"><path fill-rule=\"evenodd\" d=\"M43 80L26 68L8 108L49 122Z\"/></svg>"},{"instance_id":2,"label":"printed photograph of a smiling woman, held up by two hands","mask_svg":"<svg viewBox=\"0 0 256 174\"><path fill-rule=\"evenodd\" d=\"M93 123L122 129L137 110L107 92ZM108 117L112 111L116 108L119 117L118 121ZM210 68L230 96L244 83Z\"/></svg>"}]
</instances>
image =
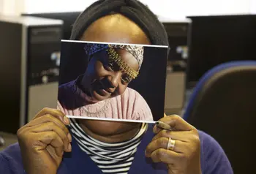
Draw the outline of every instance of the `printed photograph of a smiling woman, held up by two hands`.
<instances>
[{"instance_id":1,"label":"printed photograph of a smiling woman, held up by two hands","mask_svg":"<svg viewBox=\"0 0 256 174\"><path fill-rule=\"evenodd\" d=\"M61 40L57 109L70 118L164 116L168 46Z\"/></svg>"}]
</instances>

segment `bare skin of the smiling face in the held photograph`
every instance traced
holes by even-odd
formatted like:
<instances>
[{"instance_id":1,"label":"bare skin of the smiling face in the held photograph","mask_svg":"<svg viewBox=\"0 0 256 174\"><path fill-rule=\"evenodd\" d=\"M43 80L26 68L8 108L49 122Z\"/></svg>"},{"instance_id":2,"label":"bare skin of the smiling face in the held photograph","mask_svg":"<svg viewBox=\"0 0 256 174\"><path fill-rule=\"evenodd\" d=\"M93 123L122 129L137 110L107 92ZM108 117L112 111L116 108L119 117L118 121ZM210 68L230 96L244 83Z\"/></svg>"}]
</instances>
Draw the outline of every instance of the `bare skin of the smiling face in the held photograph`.
<instances>
[{"instance_id":1,"label":"bare skin of the smiling face in the held photograph","mask_svg":"<svg viewBox=\"0 0 256 174\"><path fill-rule=\"evenodd\" d=\"M138 71L137 59L126 50L116 50L122 61L130 68ZM88 80L86 86L91 97L101 101L110 97L116 97L124 93L132 78L122 72L115 62L110 63L107 51L103 50L95 53L88 64L85 77Z\"/></svg>"}]
</instances>

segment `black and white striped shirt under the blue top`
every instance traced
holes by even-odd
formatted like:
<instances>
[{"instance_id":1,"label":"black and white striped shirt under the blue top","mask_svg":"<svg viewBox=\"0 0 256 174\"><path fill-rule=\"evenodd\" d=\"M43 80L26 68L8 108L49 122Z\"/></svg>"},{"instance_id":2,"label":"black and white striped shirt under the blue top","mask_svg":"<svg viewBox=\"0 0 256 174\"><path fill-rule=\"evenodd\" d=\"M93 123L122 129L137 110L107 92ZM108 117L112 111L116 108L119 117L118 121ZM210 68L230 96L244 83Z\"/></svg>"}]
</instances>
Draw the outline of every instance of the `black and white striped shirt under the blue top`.
<instances>
[{"instance_id":1,"label":"black and white striped shirt under the blue top","mask_svg":"<svg viewBox=\"0 0 256 174\"><path fill-rule=\"evenodd\" d=\"M89 137L75 121L71 119L70 131L80 149L88 154L103 173L127 174L148 124L142 124L140 131L131 140L121 143L103 143Z\"/></svg>"}]
</instances>

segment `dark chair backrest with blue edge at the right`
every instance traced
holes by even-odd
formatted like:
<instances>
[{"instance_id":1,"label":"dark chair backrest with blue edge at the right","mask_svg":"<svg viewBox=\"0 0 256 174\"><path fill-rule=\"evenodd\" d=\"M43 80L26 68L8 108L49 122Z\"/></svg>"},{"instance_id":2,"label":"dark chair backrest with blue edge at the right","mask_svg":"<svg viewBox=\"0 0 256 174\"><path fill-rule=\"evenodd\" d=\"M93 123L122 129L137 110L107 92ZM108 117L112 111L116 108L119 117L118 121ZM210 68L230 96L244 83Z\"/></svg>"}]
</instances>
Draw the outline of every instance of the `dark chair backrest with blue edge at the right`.
<instances>
[{"instance_id":1,"label":"dark chair backrest with blue edge at the right","mask_svg":"<svg viewBox=\"0 0 256 174\"><path fill-rule=\"evenodd\" d=\"M206 72L184 119L218 141L234 173L256 173L256 61L229 62Z\"/></svg>"}]
</instances>

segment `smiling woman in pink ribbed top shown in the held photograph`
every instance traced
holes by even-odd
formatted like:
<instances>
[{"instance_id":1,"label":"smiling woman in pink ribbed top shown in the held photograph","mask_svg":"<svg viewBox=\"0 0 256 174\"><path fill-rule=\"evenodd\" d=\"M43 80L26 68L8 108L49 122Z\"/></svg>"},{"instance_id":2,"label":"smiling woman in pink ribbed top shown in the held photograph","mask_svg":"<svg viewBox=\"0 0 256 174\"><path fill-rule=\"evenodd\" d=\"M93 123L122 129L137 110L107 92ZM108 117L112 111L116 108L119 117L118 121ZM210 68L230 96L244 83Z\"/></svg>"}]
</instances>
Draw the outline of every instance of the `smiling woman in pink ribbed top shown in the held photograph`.
<instances>
[{"instance_id":1,"label":"smiling woman in pink ribbed top shown in the held photograph","mask_svg":"<svg viewBox=\"0 0 256 174\"><path fill-rule=\"evenodd\" d=\"M86 43L84 75L59 87L58 109L67 116L153 121L147 102L128 84L143 63L141 45Z\"/></svg>"}]
</instances>

